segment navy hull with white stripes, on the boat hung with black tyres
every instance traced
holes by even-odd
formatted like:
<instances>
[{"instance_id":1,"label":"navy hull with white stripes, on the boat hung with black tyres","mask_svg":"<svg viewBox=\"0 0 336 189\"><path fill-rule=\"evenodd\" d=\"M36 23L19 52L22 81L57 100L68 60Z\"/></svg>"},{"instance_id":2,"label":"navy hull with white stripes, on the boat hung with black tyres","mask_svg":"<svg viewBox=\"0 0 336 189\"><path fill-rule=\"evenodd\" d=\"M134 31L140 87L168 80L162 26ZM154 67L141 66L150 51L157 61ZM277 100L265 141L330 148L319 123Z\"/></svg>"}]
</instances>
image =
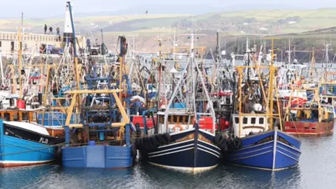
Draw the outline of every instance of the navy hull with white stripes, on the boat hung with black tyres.
<instances>
[{"instance_id":1,"label":"navy hull with white stripes, on the boat hung with black tyres","mask_svg":"<svg viewBox=\"0 0 336 189\"><path fill-rule=\"evenodd\" d=\"M214 145L214 135L195 129L171 134L170 144L148 153L152 165L192 173L213 169L220 158L221 149Z\"/></svg>"}]
</instances>

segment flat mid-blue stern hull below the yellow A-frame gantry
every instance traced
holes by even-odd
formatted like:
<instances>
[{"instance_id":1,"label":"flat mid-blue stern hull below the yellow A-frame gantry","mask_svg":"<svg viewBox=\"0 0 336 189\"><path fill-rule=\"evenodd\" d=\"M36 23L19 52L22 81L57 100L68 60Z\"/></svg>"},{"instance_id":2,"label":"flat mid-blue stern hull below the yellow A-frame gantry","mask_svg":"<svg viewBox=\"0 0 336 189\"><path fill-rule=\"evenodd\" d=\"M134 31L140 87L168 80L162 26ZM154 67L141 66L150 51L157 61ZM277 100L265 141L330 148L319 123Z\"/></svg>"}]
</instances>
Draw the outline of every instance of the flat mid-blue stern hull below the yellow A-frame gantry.
<instances>
[{"instance_id":1,"label":"flat mid-blue stern hull below the yellow A-frame gantry","mask_svg":"<svg viewBox=\"0 0 336 189\"><path fill-rule=\"evenodd\" d=\"M133 158L129 146L80 146L62 148L64 167L111 168L132 167Z\"/></svg>"}]
</instances>

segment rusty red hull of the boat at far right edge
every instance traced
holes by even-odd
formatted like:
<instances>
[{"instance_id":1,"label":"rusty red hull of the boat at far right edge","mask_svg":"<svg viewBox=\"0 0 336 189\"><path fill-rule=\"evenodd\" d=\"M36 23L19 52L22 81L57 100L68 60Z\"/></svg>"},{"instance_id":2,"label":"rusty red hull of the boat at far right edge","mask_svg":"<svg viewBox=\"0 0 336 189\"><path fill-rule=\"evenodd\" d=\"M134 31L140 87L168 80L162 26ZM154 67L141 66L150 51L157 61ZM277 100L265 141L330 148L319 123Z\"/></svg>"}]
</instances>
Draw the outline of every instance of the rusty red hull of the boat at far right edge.
<instances>
[{"instance_id":1,"label":"rusty red hull of the boat at far right edge","mask_svg":"<svg viewBox=\"0 0 336 189\"><path fill-rule=\"evenodd\" d=\"M325 135L333 133L334 125L335 120L325 123L289 121L285 123L285 132L300 135Z\"/></svg>"}]
</instances>

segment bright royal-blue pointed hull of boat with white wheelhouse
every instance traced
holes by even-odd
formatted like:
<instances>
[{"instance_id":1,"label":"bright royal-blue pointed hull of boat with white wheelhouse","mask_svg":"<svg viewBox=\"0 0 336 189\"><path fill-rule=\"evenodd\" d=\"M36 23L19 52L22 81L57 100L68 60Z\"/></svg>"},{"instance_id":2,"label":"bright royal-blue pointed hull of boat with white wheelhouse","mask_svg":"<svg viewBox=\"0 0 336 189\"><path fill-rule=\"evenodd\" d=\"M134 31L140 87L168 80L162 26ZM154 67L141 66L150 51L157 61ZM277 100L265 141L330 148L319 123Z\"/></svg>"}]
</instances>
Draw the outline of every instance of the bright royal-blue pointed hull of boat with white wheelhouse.
<instances>
[{"instance_id":1,"label":"bright royal-blue pointed hull of boat with white wheelhouse","mask_svg":"<svg viewBox=\"0 0 336 189\"><path fill-rule=\"evenodd\" d=\"M299 162L301 142L278 130L241 138L241 148L231 151L228 162L243 167L281 170Z\"/></svg>"}]
</instances>

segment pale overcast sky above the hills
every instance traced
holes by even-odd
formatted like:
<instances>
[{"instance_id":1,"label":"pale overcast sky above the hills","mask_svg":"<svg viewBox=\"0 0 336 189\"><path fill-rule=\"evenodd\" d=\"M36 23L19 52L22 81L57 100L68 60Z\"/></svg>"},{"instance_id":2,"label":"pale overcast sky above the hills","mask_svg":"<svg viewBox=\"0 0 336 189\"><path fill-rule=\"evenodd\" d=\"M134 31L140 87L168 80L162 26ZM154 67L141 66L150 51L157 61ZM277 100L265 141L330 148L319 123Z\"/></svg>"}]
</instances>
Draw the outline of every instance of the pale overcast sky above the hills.
<instances>
[{"instance_id":1,"label":"pale overcast sky above the hills","mask_svg":"<svg viewBox=\"0 0 336 189\"><path fill-rule=\"evenodd\" d=\"M197 10L198 12L202 12L202 9L208 11L211 10L211 8L214 8L216 11L221 8L226 10L225 8L232 6L244 9L251 7L251 4L253 7L260 6L261 8L265 8L265 6L262 6L265 5L265 3L268 6L274 5L274 9L276 9L276 5L278 5L279 8L302 9L336 7L336 1L333 0L72 0L72 3L74 13L97 13L137 7L147 7L148 12L151 13L151 9L164 7L165 5L187 6L188 4L193 5L193 8L198 7L198 9L200 9ZM246 3L248 3L248 6L242 6ZM279 3L281 4L279 5ZM25 17L28 18L46 18L55 15L63 15L66 0L0 0L0 4L0 18L20 18L22 12L24 12Z\"/></svg>"}]
</instances>

